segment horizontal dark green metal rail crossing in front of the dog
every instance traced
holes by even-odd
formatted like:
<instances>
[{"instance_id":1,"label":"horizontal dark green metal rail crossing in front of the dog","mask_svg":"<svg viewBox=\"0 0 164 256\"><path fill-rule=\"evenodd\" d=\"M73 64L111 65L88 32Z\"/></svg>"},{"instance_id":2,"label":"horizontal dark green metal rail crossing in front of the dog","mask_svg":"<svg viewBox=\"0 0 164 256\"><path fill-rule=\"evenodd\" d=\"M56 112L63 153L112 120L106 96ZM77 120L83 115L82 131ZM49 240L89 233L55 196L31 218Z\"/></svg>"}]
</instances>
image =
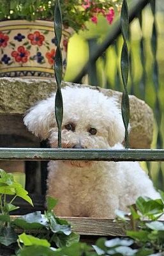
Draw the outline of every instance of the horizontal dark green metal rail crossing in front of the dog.
<instances>
[{"instance_id":1,"label":"horizontal dark green metal rail crossing in front of the dog","mask_svg":"<svg viewBox=\"0 0 164 256\"><path fill-rule=\"evenodd\" d=\"M163 149L0 148L0 160L164 161Z\"/></svg>"}]
</instances>

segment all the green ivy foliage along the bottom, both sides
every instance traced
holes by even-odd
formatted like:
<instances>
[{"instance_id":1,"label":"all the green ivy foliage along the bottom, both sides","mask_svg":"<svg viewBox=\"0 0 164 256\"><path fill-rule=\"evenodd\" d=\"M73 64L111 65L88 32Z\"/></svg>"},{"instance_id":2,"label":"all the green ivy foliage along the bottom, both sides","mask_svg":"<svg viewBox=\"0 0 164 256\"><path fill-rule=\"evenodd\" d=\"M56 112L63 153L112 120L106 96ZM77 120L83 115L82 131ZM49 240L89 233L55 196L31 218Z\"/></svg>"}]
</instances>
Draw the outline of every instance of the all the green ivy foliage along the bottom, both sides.
<instances>
[{"instance_id":1,"label":"all the green ivy foliage along the bottom, both sides","mask_svg":"<svg viewBox=\"0 0 164 256\"><path fill-rule=\"evenodd\" d=\"M33 205L27 191L15 182L11 173L0 170L0 244L11 246L17 256L162 256L164 252L163 215L164 193L161 199L153 200L140 196L135 205L130 205L130 212L116 211L116 222L123 225L128 237L107 240L100 238L93 246L79 243L79 236L71 232L70 224L56 217L54 207L57 200L47 196L47 211L40 211L10 218L10 211L17 209L11 204L21 196ZM6 202L6 195L13 198ZM118 221L119 220L119 221ZM131 223L132 229L128 229ZM22 230L18 236L15 228ZM31 234L25 233L30 230ZM14 251L13 251L14 253Z\"/></svg>"}]
</instances>

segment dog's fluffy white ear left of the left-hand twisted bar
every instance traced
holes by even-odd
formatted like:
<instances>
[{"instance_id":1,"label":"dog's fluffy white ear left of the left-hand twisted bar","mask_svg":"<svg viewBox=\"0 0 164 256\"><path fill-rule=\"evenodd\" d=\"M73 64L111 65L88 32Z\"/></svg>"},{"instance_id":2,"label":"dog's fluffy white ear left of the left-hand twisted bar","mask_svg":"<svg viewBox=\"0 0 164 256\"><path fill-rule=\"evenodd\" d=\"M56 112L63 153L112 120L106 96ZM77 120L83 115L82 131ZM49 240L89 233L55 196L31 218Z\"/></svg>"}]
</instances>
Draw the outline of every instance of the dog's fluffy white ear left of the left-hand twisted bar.
<instances>
[{"instance_id":1,"label":"dog's fluffy white ear left of the left-hand twisted bar","mask_svg":"<svg viewBox=\"0 0 164 256\"><path fill-rule=\"evenodd\" d=\"M50 129L56 124L55 93L52 97L41 100L24 117L24 124L35 136L41 136L46 140Z\"/></svg>"}]
</instances>

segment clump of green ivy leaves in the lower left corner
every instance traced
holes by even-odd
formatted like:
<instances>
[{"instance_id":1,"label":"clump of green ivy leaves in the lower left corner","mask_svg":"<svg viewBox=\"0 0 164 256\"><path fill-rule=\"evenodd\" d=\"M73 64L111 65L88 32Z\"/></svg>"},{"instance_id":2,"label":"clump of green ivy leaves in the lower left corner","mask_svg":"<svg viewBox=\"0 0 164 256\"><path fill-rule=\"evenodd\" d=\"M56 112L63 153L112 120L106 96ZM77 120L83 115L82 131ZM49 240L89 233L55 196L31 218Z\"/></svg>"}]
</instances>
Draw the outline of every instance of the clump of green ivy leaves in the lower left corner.
<instances>
[{"instance_id":1,"label":"clump of green ivy leaves in the lower left corner","mask_svg":"<svg viewBox=\"0 0 164 256\"><path fill-rule=\"evenodd\" d=\"M45 211L45 214L36 211L14 220L11 219L10 211L18 208L11 203L17 196L22 197L31 205L33 205L33 202L27 191L19 183L15 182L11 173L0 170L0 177L0 244L17 248L18 241L20 248L22 248L21 244L23 243L24 247L41 246L48 248L47 250L50 251L49 247L51 245L65 247L78 243L79 236L71 232L71 225L65 220L60 220L54 214L53 209L57 204L57 200L50 196L47 196L47 211ZM7 195L13 196L9 203L6 201ZM15 228L20 228L23 234L18 237ZM24 230L26 232L30 230L35 237L27 236Z\"/></svg>"}]
</instances>

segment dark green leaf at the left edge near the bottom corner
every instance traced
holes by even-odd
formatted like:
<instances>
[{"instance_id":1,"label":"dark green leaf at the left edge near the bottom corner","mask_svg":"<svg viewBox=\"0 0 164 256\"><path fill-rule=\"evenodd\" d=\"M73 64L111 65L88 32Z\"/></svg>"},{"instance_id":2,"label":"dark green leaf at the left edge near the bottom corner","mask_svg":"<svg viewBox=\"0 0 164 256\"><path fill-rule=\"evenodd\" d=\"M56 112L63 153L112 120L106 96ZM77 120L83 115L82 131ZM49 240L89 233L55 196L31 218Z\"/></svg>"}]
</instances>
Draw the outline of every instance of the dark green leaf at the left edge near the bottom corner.
<instances>
[{"instance_id":1,"label":"dark green leaf at the left edge near the bottom corner","mask_svg":"<svg viewBox=\"0 0 164 256\"><path fill-rule=\"evenodd\" d=\"M11 227L4 227L1 231L0 243L6 246L17 242L17 234Z\"/></svg>"}]
</instances>

